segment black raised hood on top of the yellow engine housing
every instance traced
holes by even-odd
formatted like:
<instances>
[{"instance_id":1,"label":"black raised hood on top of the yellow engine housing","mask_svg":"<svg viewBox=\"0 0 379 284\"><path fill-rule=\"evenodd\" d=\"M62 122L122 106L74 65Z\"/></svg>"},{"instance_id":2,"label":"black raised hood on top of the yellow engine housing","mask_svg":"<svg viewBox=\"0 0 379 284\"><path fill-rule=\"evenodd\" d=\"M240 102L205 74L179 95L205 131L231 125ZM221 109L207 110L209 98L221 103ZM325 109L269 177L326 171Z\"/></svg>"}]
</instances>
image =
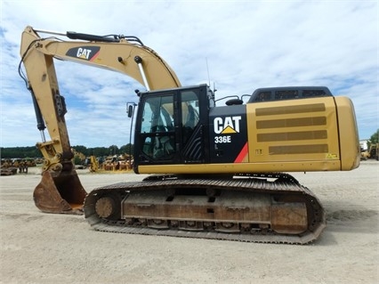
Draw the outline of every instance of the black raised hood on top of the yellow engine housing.
<instances>
[{"instance_id":1,"label":"black raised hood on top of the yellow engine housing","mask_svg":"<svg viewBox=\"0 0 379 284\"><path fill-rule=\"evenodd\" d=\"M333 96L326 86L294 86L259 88L254 91L249 102L283 101Z\"/></svg>"}]
</instances>

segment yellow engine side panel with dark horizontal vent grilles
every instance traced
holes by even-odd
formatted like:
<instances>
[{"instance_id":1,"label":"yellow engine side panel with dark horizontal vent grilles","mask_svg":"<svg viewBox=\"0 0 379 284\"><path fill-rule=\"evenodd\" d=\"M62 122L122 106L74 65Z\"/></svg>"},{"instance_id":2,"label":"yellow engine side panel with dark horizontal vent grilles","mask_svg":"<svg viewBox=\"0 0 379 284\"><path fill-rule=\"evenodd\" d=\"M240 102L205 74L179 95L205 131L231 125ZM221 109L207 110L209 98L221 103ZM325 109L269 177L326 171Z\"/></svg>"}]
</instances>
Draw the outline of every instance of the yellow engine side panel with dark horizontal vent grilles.
<instances>
[{"instance_id":1,"label":"yellow engine side panel with dark horizontal vent grilles","mask_svg":"<svg viewBox=\"0 0 379 284\"><path fill-rule=\"evenodd\" d=\"M250 103L246 108L249 163L339 164L340 138L333 97Z\"/></svg>"}]
</instances>

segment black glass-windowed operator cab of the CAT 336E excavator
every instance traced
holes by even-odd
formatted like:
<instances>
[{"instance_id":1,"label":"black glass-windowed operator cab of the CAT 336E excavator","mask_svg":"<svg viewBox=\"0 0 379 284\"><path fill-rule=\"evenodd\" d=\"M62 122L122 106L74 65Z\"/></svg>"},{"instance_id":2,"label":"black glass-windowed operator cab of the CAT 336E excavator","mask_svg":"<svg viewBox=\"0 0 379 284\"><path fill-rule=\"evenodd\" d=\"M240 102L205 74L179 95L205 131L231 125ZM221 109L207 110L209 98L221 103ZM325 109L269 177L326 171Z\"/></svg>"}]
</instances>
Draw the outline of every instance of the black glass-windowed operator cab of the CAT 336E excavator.
<instances>
[{"instance_id":1,"label":"black glass-windowed operator cab of the CAT 336E excavator","mask_svg":"<svg viewBox=\"0 0 379 284\"><path fill-rule=\"evenodd\" d=\"M134 166L204 162L204 127L213 107L214 94L205 84L140 93Z\"/></svg>"}]
</instances>

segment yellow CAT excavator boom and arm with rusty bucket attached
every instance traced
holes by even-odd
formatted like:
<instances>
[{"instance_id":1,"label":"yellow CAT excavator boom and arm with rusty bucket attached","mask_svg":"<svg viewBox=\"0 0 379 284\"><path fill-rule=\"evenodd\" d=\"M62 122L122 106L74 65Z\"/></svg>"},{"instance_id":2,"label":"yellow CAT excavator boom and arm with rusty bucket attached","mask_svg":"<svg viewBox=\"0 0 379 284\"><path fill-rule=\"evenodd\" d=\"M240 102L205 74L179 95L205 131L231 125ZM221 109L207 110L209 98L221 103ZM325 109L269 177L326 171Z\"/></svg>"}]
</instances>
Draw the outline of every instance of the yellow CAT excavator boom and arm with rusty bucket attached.
<instances>
[{"instance_id":1,"label":"yellow CAT excavator boom and arm with rusty bucket attached","mask_svg":"<svg viewBox=\"0 0 379 284\"><path fill-rule=\"evenodd\" d=\"M48 34L43 38L39 33ZM61 40L63 36L74 41ZM54 59L75 61L127 74L148 90L178 87L173 70L137 37L101 37L75 32L65 34L25 28L21 37L21 62L36 111L44 156L41 182L34 191L36 207L48 213L83 214L86 191L72 163L73 153L65 121L66 102L60 94ZM20 63L21 63L20 62ZM50 135L46 140L44 129Z\"/></svg>"}]
</instances>

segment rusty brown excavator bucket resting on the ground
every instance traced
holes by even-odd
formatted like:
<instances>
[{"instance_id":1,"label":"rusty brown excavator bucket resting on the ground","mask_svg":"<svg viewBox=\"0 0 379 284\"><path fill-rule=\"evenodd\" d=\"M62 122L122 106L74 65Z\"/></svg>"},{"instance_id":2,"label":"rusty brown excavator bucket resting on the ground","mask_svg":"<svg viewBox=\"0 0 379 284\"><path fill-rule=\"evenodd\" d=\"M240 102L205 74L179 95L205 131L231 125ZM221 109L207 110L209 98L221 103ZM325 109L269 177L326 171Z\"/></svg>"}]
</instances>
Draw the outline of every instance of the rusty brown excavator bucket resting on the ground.
<instances>
[{"instance_id":1,"label":"rusty brown excavator bucket resting on the ground","mask_svg":"<svg viewBox=\"0 0 379 284\"><path fill-rule=\"evenodd\" d=\"M46 213L83 215L86 195L75 170L60 173L45 171L33 199L36 207Z\"/></svg>"}]
</instances>

